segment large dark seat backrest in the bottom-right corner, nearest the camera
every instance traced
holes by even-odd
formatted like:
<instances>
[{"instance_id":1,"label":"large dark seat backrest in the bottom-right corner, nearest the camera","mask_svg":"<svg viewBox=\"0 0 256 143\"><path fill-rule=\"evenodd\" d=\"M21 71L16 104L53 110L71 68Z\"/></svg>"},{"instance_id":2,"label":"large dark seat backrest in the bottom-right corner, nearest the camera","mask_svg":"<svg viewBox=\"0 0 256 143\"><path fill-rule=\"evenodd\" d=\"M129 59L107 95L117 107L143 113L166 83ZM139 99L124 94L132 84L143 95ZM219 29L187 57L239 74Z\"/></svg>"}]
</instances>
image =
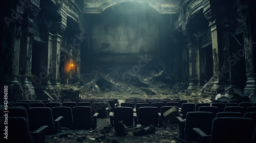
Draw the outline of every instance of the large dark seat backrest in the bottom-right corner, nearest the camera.
<instances>
[{"instance_id":1,"label":"large dark seat backrest in the bottom-right corner, nearest the camera","mask_svg":"<svg viewBox=\"0 0 256 143\"><path fill-rule=\"evenodd\" d=\"M217 117L212 121L211 143L250 142L255 125L251 118Z\"/></svg>"}]
</instances>

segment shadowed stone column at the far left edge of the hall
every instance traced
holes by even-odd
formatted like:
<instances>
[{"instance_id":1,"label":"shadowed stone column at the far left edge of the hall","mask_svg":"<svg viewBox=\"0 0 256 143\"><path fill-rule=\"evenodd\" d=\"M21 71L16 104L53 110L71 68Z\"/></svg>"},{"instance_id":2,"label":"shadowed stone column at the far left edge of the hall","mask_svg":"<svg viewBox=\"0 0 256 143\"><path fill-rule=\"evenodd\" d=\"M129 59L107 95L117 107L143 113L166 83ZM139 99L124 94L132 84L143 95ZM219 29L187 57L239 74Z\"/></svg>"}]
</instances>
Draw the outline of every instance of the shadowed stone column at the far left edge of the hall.
<instances>
[{"instance_id":1,"label":"shadowed stone column at the far left edge of the hall","mask_svg":"<svg viewBox=\"0 0 256 143\"><path fill-rule=\"evenodd\" d=\"M8 101L16 102L23 99L24 93L19 87L19 45L22 33L20 31L22 25L23 12L19 9L18 4L14 4L15 8L12 10L16 13L5 15L8 18L13 18L12 14L15 14L10 23L3 23L4 27L4 39L3 39L3 53L1 55L1 91L4 86L8 86ZM18 14L17 14L18 13ZM12 15L12 16L11 16ZM3 91L4 93L4 91ZM2 101L3 99L0 99Z\"/></svg>"}]
</instances>

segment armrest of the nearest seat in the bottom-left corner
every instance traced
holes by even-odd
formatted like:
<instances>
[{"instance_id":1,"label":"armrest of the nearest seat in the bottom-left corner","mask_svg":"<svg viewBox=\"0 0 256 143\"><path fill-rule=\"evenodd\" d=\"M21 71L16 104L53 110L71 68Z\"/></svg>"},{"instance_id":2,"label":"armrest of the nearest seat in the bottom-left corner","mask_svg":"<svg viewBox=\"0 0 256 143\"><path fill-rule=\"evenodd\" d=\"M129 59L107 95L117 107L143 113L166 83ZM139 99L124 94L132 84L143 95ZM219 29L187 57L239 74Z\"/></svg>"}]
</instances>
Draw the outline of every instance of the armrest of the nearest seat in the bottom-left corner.
<instances>
[{"instance_id":1,"label":"armrest of the nearest seat in the bottom-left corner","mask_svg":"<svg viewBox=\"0 0 256 143\"><path fill-rule=\"evenodd\" d=\"M48 126L42 126L41 128L37 129L34 132L31 132L31 135L33 136L34 143L45 143L45 130L48 128Z\"/></svg>"}]
</instances>

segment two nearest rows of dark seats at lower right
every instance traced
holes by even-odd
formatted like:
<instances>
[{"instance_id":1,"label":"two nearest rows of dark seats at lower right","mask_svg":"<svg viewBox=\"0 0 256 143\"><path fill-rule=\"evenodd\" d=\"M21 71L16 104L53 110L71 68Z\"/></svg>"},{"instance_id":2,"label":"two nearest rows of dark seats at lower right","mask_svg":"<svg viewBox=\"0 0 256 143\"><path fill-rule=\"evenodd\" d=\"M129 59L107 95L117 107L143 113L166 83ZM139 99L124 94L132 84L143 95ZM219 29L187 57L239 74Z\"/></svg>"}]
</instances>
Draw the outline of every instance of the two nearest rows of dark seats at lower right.
<instances>
[{"instance_id":1,"label":"two nearest rows of dark seats at lower right","mask_svg":"<svg viewBox=\"0 0 256 143\"><path fill-rule=\"evenodd\" d=\"M177 117L180 121L180 137L187 142L198 143L255 142L256 112L249 112L244 116L233 113L215 117L213 113L206 111L188 112L186 121Z\"/></svg>"}]
</instances>

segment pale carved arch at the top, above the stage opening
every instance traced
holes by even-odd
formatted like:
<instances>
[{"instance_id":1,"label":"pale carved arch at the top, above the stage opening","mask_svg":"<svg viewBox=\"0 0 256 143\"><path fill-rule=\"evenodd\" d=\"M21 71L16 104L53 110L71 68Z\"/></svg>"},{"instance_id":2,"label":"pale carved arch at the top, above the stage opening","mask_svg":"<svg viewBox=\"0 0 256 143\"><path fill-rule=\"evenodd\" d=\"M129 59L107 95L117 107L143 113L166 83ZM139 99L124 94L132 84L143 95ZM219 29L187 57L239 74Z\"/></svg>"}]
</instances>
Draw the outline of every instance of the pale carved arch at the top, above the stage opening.
<instances>
[{"instance_id":1,"label":"pale carved arch at the top, above the stage opening","mask_svg":"<svg viewBox=\"0 0 256 143\"><path fill-rule=\"evenodd\" d=\"M181 0L84 0L84 13L102 13L105 9L114 8L121 3L136 2L153 7L159 13L175 14Z\"/></svg>"}]
</instances>

